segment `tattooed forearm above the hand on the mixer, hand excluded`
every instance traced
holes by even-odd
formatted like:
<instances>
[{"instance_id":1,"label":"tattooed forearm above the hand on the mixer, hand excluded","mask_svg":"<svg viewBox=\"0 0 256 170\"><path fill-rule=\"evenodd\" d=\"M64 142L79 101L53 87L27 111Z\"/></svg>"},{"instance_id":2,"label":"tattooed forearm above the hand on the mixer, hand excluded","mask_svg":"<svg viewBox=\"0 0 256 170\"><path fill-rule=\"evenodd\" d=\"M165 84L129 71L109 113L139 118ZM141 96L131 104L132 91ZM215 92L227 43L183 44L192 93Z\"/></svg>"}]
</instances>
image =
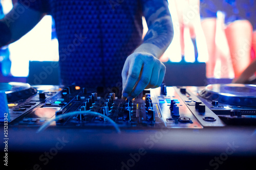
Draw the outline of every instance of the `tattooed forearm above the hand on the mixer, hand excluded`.
<instances>
[{"instance_id":1,"label":"tattooed forearm above the hand on the mixer, hand excluded","mask_svg":"<svg viewBox=\"0 0 256 170\"><path fill-rule=\"evenodd\" d=\"M170 42L173 40L173 23L167 7L161 7L156 11L146 11L149 16L147 25L148 32L143 43L136 48L136 52L150 53L156 58L160 58L165 52ZM150 13L151 14L148 14Z\"/></svg>"}]
</instances>

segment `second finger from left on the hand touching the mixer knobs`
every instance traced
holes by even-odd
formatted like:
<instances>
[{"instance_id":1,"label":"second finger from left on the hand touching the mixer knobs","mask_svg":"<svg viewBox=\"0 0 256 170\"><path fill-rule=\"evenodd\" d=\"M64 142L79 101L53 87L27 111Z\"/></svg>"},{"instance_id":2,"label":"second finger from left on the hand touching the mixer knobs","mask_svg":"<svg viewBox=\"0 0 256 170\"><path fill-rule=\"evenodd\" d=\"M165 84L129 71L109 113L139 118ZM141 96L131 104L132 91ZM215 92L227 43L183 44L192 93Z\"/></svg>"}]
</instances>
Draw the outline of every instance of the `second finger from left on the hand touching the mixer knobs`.
<instances>
[{"instance_id":1,"label":"second finger from left on the hand touching the mixer knobs","mask_svg":"<svg viewBox=\"0 0 256 170\"><path fill-rule=\"evenodd\" d=\"M150 83L153 66L154 65L152 64L144 64L138 85L135 87L134 91L131 93L131 98L136 98L136 96L138 96L140 92L145 89L148 83Z\"/></svg>"}]
</instances>

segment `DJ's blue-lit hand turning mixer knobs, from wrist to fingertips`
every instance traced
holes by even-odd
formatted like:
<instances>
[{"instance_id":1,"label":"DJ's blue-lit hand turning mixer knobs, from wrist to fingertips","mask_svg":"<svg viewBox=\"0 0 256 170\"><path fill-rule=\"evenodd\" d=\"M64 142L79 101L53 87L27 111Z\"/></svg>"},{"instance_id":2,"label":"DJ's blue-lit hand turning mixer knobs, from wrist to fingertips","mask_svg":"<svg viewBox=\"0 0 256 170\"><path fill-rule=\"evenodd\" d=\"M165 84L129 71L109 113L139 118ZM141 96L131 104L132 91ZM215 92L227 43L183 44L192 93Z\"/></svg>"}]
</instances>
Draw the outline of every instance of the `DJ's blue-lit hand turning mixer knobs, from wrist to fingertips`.
<instances>
[{"instance_id":1,"label":"DJ's blue-lit hand turning mixer knobs, from wrist to fingertips","mask_svg":"<svg viewBox=\"0 0 256 170\"><path fill-rule=\"evenodd\" d=\"M148 53L133 53L127 57L123 70L123 98L132 100L145 88L159 87L165 75L165 65Z\"/></svg>"}]
</instances>

